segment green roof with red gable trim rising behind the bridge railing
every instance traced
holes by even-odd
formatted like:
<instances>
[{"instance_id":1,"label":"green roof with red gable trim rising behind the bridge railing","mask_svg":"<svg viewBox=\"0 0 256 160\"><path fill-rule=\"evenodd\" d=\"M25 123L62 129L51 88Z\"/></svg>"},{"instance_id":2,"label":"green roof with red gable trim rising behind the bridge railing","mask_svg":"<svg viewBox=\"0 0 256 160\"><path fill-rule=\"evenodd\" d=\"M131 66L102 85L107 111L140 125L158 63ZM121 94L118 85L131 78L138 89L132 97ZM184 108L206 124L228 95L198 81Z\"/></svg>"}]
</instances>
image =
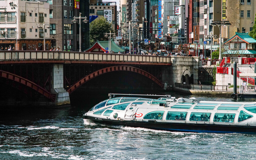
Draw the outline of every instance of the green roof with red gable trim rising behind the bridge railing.
<instances>
[{"instance_id":1,"label":"green roof with red gable trim rising behind the bridge railing","mask_svg":"<svg viewBox=\"0 0 256 160\"><path fill-rule=\"evenodd\" d=\"M109 48L109 41L96 41L90 48L85 50L85 52L93 52L95 48L100 48L102 52L105 52L105 48ZM114 53L124 52L125 50L120 48L118 45L115 44L113 40L111 40L111 50L114 51Z\"/></svg>"}]
</instances>

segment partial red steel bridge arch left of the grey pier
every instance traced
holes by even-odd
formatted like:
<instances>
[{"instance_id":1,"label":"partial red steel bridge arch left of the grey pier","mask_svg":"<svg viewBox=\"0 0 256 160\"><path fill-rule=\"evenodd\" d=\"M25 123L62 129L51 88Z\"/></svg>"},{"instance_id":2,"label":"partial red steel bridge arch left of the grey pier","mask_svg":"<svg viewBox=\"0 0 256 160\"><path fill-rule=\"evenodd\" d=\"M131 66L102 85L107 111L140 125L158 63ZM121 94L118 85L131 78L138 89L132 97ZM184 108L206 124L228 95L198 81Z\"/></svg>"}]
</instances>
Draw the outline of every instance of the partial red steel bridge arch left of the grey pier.
<instances>
[{"instance_id":1,"label":"partial red steel bridge arch left of the grey pier","mask_svg":"<svg viewBox=\"0 0 256 160\"><path fill-rule=\"evenodd\" d=\"M23 77L17 76L16 74L0 70L0 77L7 78L7 79L13 80L15 82L19 82L21 84L24 84L25 86L34 89L38 93L41 93L46 98L51 99L51 100L55 100L55 94L51 94L50 92L48 92L44 88L38 86L34 82L31 82L31 81L29 81L29 80L27 80Z\"/></svg>"}]
</instances>

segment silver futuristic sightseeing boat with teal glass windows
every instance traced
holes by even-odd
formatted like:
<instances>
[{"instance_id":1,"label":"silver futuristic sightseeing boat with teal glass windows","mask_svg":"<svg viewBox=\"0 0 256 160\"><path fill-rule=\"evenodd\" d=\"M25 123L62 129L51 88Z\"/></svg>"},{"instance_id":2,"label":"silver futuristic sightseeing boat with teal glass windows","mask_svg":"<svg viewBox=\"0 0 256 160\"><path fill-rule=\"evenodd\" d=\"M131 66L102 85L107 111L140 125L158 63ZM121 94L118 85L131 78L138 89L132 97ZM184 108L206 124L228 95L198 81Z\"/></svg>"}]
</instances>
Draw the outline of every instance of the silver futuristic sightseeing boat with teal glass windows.
<instances>
[{"instance_id":1,"label":"silver futuristic sightseeing boat with teal glass windows","mask_svg":"<svg viewBox=\"0 0 256 160\"><path fill-rule=\"evenodd\" d=\"M256 102L199 101L170 95L159 99L116 97L93 106L83 119L154 130L256 134ZM121 94L132 95L132 94ZM156 95L154 95L156 96Z\"/></svg>"}]
</instances>

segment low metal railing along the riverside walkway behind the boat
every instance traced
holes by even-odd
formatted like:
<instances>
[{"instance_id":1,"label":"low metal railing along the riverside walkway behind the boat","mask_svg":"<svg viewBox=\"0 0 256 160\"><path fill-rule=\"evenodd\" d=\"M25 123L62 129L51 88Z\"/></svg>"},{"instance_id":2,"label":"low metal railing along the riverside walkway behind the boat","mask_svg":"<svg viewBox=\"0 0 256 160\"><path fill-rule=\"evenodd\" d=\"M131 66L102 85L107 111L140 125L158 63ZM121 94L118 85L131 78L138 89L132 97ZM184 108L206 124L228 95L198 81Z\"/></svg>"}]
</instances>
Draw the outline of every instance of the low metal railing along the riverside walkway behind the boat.
<instances>
[{"instance_id":1,"label":"low metal railing along the riverside walkway behind the boat","mask_svg":"<svg viewBox=\"0 0 256 160\"><path fill-rule=\"evenodd\" d=\"M176 88L183 88L189 90L211 90L211 91L233 91L233 86L214 86L214 85L195 85L175 83ZM237 86L239 90L239 86Z\"/></svg>"}]
</instances>

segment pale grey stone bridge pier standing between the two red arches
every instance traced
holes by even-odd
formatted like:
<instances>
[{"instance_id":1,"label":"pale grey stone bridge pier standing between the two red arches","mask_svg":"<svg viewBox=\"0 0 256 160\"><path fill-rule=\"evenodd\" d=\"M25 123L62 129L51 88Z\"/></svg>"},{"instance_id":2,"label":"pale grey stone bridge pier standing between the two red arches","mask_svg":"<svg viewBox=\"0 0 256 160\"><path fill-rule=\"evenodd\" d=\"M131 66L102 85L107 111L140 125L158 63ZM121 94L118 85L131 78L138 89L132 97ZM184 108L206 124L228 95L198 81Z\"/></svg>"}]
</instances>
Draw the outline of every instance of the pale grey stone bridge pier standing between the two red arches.
<instances>
[{"instance_id":1,"label":"pale grey stone bridge pier standing between the two red arches","mask_svg":"<svg viewBox=\"0 0 256 160\"><path fill-rule=\"evenodd\" d=\"M52 67L51 93L56 94L55 106L70 105L69 93L63 88L63 64L54 64Z\"/></svg>"}]
</instances>

